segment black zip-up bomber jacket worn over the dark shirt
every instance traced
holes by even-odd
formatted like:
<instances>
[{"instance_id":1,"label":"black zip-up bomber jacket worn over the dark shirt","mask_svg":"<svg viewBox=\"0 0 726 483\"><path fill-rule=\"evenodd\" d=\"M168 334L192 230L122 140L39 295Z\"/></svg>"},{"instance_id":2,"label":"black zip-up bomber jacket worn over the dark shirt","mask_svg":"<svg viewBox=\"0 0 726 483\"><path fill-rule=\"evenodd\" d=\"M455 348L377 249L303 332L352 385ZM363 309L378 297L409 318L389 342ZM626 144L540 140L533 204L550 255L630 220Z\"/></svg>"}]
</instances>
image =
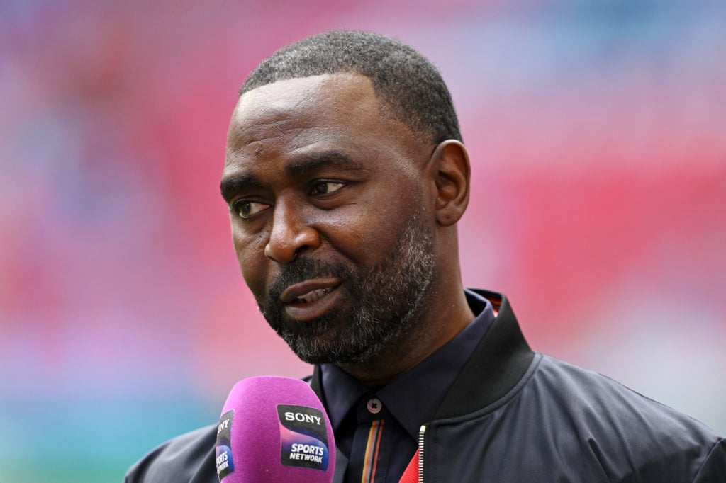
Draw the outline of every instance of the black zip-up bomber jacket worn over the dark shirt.
<instances>
[{"instance_id":1,"label":"black zip-up bomber jacket worn over the dark shirt","mask_svg":"<svg viewBox=\"0 0 726 483\"><path fill-rule=\"evenodd\" d=\"M505 297L425 425L424 482L726 482L726 440L621 384L529 349ZM325 403L320 371L311 387ZM216 483L216 425L161 445L127 483ZM346 458L338 453L336 479Z\"/></svg>"}]
</instances>

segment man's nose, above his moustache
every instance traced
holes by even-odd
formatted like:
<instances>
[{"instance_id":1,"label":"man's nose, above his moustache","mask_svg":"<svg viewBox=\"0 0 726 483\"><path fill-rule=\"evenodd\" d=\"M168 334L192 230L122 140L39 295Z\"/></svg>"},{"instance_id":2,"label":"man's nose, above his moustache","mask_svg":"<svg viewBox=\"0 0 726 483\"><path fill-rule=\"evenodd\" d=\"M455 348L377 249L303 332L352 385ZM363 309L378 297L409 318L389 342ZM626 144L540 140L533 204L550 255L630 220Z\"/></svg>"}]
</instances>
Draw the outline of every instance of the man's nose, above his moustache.
<instances>
[{"instance_id":1,"label":"man's nose, above his moustache","mask_svg":"<svg viewBox=\"0 0 726 483\"><path fill-rule=\"evenodd\" d=\"M304 249L316 249L320 234L310 226L294 204L278 201L272 214L272 228L265 245L265 256L284 265L295 260Z\"/></svg>"}]
</instances>

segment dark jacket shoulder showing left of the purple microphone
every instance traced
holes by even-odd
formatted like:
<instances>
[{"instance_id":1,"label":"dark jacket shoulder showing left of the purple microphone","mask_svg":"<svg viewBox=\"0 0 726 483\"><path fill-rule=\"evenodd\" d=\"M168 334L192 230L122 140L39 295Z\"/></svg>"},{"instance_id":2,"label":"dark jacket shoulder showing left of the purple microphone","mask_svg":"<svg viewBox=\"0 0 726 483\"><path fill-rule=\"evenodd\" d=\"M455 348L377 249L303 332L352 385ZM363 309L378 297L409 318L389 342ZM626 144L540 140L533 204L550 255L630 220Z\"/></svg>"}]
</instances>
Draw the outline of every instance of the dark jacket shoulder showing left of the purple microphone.
<instances>
[{"instance_id":1,"label":"dark jacket shoulder showing left of the purple microphone","mask_svg":"<svg viewBox=\"0 0 726 483\"><path fill-rule=\"evenodd\" d=\"M125 483L217 483L214 466L217 426L170 439L131 466Z\"/></svg>"}]
</instances>

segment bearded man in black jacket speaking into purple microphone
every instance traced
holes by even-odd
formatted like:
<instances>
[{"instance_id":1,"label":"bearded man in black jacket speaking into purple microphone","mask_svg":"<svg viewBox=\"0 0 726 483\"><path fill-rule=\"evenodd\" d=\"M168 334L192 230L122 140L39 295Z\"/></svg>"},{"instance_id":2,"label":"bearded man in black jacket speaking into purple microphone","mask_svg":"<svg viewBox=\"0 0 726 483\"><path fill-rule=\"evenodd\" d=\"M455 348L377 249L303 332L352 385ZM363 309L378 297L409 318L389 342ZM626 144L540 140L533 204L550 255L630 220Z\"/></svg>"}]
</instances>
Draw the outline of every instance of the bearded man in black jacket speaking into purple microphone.
<instances>
[{"instance_id":1,"label":"bearded man in black jacket speaking into purple microphone","mask_svg":"<svg viewBox=\"0 0 726 483\"><path fill-rule=\"evenodd\" d=\"M532 352L501 294L464 289L469 160L436 69L331 32L242 86L221 191L266 320L316 364L336 481L726 482L726 441L610 379ZM216 426L127 482L215 482ZM366 454L375 455L365 458Z\"/></svg>"}]
</instances>

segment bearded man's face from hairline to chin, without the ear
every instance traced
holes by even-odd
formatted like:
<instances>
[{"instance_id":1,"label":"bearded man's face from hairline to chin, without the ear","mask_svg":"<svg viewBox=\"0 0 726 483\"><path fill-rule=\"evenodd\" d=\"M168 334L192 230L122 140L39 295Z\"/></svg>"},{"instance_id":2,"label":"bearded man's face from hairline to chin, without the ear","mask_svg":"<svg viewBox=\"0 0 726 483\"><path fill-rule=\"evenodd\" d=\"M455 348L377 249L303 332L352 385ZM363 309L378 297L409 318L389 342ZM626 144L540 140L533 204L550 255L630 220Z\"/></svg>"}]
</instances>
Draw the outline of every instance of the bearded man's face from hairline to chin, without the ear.
<instances>
[{"instance_id":1,"label":"bearded man's face from hairline to chin, without the ear","mask_svg":"<svg viewBox=\"0 0 726 483\"><path fill-rule=\"evenodd\" d=\"M405 337L435 273L433 144L335 74L244 94L222 191L242 275L302 360L361 363Z\"/></svg>"}]
</instances>

